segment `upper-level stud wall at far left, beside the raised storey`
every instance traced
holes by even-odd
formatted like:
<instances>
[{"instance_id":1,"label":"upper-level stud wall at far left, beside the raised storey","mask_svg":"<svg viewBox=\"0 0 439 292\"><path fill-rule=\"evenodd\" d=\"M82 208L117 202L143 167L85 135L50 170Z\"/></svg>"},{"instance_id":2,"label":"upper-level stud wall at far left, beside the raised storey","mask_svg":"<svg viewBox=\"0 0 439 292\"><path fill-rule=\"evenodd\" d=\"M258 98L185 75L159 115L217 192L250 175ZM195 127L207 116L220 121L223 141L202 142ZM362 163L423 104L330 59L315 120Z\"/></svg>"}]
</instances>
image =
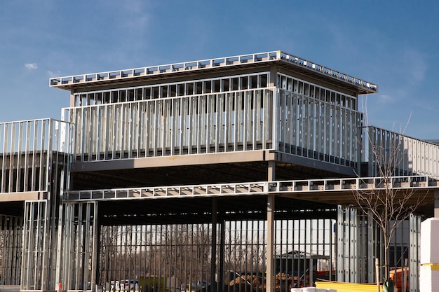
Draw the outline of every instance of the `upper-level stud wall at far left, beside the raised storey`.
<instances>
[{"instance_id":1,"label":"upper-level stud wall at far left, beside the raised storey","mask_svg":"<svg viewBox=\"0 0 439 292\"><path fill-rule=\"evenodd\" d=\"M0 123L0 193L49 192L56 168L66 166L71 127L52 119Z\"/></svg>"}]
</instances>

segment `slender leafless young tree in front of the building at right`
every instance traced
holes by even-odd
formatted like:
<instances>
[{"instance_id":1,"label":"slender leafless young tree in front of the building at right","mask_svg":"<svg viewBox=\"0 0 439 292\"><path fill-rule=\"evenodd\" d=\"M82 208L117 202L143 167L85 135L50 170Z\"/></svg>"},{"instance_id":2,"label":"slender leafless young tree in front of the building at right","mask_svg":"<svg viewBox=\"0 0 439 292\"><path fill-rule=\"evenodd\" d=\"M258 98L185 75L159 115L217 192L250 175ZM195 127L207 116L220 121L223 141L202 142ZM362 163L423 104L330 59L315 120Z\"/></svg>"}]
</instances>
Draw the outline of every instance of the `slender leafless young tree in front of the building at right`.
<instances>
[{"instance_id":1,"label":"slender leafless young tree in front of the building at right","mask_svg":"<svg viewBox=\"0 0 439 292\"><path fill-rule=\"evenodd\" d=\"M389 278L389 248L398 225L405 221L421 204L426 193L410 188L405 167L407 146L403 134L368 127L369 162L373 178L361 179L367 188L353 191L358 207L377 224L383 235L385 278ZM385 140L385 141L384 141Z\"/></svg>"}]
</instances>

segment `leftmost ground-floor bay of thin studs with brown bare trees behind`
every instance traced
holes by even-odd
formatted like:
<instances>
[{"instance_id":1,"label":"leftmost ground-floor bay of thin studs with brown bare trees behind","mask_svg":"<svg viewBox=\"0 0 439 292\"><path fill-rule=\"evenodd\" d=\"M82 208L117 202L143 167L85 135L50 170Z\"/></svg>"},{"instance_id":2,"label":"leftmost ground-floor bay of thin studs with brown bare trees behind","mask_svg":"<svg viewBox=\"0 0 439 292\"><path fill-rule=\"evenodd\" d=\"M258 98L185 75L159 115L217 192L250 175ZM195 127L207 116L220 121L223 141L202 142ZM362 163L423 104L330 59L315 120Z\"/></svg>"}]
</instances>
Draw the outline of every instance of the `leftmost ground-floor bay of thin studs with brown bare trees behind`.
<instances>
[{"instance_id":1,"label":"leftmost ground-floor bay of thin studs with brown bare trees behind","mask_svg":"<svg viewBox=\"0 0 439 292\"><path fill-rule=\"evenodd\" d=\"M209 224L102 226L98 281L123 290L121 281L135 279L149 292L210 280L211 239Z\"/></svg>"}]
</instances>

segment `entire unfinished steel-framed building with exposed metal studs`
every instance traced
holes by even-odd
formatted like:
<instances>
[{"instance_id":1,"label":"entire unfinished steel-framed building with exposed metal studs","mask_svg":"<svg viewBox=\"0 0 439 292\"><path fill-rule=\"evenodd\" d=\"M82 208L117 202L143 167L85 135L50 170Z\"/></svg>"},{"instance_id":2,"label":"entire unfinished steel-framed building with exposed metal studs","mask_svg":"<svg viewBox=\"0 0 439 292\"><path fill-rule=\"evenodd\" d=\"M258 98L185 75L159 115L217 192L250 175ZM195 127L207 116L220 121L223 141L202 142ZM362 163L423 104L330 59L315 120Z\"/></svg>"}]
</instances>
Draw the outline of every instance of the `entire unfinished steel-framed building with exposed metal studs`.
<instances>
[{"instance_id":1,"label":"entire unfinished steel-framed building with exposed metal studs","mask_svg":"<svg viewBox=\"0 0 439 292\"><path fill-rule=\"evenodd\" d=\"M408 260L418 291L419 226L439 212L439 146L365 125L358 98L377 85L273 51L50 87L70 92L60 120L0 123L1 284L281 292L319 277L373 282L379 229L352 193L384 188L377 157L398 147L391 188L425 204L398 229L391 259Z\"/></svg>"}]
</instances>

